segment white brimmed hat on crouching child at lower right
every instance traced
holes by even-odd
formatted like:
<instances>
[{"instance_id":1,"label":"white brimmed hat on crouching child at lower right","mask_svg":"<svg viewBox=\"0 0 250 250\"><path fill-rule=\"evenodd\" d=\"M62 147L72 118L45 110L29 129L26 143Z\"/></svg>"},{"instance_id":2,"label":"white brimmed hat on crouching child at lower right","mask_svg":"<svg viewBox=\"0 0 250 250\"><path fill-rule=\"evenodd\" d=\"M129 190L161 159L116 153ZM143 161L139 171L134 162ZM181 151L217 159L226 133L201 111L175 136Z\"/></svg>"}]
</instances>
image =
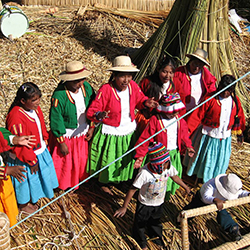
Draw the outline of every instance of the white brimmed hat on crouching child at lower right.
<instances>
[{"instance_id":1,"label":"white brimmed hat on crouching child at lower right","mask_svg":"<svg viewBox=\"0 0 250 250\"><path fill-rule=\"evenodd\" d=\"M234 200L239 197L242 182L236 174L220 174L215 177L215 186L225 199Z\"/></svg>"}]
</instances>

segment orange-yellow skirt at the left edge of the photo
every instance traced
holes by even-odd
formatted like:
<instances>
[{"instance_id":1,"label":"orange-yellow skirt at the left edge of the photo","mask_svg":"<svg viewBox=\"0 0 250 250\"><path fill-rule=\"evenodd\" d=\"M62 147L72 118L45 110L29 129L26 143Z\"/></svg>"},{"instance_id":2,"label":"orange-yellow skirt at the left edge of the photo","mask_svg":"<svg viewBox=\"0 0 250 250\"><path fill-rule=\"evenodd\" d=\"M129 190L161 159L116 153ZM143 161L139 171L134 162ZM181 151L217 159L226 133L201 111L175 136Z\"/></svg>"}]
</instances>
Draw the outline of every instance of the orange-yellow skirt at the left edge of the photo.
<instances>
[{"instance_id":1,"label":"orange-yellow skirt at the left edge of the photo","mask_svg":"<svg viewBox=\"0 0 250 250\"><path fill-rule=\"evenodd\" d=\"M8 216L12 227L17 223L18 208L11 178L9 176L7 178L0 181L0 212Z\"/></svg>"}]
</instances>

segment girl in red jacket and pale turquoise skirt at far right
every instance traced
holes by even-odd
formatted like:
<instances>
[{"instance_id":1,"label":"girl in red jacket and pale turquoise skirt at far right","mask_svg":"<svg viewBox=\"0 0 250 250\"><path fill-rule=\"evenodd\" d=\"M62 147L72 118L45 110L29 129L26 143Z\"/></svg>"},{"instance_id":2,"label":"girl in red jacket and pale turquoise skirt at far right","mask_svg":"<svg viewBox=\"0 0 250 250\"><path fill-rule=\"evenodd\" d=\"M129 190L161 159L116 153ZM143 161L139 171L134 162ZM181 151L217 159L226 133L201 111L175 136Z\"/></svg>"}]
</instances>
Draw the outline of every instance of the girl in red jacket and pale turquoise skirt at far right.
<instances>
[{"instance_id":1,"label":"girl in red jacket and pale turquoise skirt at far right","mask_svg":"<svg viewBox=\"0 0 250 250\"><path fill-rule=\"evenodd\" d=\"M224 75L217 90L234 81L233 76ZM242 131L245 129L245 116L240 100L235 95L235 85L196 109L187 124L193 134L192 141L197 152L194 159L188 156L184 158L183 164L188 167L187 174L197 175L203 182L225 174L231 154L231 133L236 133L238 142L242 143Z\"/></svg>"}]
</instances>

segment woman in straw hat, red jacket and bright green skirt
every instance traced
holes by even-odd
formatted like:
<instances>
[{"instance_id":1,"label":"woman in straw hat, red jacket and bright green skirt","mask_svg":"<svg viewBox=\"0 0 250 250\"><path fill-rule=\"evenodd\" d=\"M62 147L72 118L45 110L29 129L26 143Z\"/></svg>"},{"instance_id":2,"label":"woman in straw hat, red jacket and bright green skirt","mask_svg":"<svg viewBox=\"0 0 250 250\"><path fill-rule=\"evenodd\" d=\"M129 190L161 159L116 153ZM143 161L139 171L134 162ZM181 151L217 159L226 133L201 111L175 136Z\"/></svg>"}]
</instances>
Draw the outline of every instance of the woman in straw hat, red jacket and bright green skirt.
<instances>
[{"instance_id":1,"label":"woman in straw hat, red jacket and bright green skirt","mask_svg":"<svg viewBox=\"0 0 250 250\"><path fill-rule=\"evenodd\" d=\"M138 69L128 56L115 58L112 80L98 91L87 111L87 118L99 123L90 149L88 171L94 174L131 149L136 142L135 108L154 108L157 102L148 99L132 80ZM133 177L133 153L99 173L99 182L127 181ZM102 186L110 194L107 186Z\"/></svg>"}]
</instances>

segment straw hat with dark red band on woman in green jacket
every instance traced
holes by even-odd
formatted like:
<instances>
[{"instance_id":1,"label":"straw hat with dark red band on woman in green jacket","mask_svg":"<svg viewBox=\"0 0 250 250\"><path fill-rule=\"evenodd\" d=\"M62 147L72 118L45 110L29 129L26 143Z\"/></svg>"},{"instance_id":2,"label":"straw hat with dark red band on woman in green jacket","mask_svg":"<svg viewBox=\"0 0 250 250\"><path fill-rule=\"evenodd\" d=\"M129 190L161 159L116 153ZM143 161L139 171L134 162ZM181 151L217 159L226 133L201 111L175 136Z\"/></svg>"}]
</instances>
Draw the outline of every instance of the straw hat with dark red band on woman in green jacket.
<instances>
[{"instance_id":1,"label":"straw hat with dark red band on woman in green jacket","mask_svg":"<svg viewBox=\"0 0 250 250\"><path fill-rule=\"evenodd\" d=\"M61 72L59 79L62 81L74 81L86 78L92 74L86 67L79 61L68 62L65 71Z\"/></svg>"}]
</instances>

